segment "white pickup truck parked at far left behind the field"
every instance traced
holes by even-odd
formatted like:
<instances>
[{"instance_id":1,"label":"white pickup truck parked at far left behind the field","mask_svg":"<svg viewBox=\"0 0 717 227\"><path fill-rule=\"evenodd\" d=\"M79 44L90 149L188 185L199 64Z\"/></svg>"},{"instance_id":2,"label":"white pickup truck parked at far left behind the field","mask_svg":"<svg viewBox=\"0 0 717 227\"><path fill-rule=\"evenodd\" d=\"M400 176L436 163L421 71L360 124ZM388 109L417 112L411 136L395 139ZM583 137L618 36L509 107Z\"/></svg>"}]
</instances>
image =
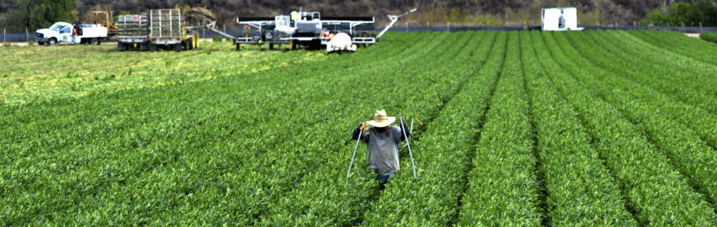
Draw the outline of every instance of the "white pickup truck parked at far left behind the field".
<instances>
[{"instance_id":1,"label":"white pickup truck parked at far left behind the field","mask_svg":"<svg viewBox=\"0 0 717 227\"><path fill-rule=\"evenodd\" d=\"M52 24L49 29L39 29L35 32L35 40L37 44L56 45L60 42L70 44L95 44L107 39L107 28L98 24L82 24L82 35L72 37L72 24L66 22L57 22Z\"/></svg>"}]
</instances>

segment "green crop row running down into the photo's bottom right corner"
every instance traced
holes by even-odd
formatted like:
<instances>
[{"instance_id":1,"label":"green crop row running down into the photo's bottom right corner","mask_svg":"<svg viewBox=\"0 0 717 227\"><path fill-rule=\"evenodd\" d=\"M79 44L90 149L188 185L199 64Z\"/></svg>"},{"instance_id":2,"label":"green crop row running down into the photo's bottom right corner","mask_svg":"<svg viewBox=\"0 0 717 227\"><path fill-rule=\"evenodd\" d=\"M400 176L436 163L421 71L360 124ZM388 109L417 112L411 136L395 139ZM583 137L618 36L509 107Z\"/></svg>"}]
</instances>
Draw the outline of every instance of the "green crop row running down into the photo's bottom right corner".
<instances>
[{"instance_id":1,"label":"green crop row running down into the photo's bottom right corner","mask_svg":"<svg viewBox=\"0 0 717 227\"><path fill-rule=\"evenodd\" d=\"M533 37L541 63L563 69L555 70L549 78L579 112L637 221L657 226L714 225L716 216L708 203L670 165L668 157L655 149L619 110L573 78L576 74L592 73L587 68L574 67L570 60L578 56L564 55L552 34L534 34ZM585 43L575 44L581 45Z\"/></svg>"}]
</instances>

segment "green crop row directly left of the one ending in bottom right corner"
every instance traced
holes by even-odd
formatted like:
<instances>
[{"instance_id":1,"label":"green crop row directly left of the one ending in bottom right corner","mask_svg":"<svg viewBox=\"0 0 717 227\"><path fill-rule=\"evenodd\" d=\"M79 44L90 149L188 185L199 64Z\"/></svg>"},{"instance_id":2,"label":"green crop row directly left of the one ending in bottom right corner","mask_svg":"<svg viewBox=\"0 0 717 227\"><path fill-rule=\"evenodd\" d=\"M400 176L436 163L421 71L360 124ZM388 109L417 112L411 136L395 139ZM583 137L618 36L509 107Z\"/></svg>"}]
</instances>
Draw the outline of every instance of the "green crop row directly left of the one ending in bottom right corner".
<instances>
[{"instance_id":1,"label":"green crop row directly left of the one ending in bottom right corner","mask_svg":"<svg viewBox=\"0 0 717 227\"><path fill-rule=\"evenodd\" d=\"M521 60L550 225L636 226L579 116L548 78L561 69L538 61L533 35L521 32Z\"/></svg>"}]
</instances>

